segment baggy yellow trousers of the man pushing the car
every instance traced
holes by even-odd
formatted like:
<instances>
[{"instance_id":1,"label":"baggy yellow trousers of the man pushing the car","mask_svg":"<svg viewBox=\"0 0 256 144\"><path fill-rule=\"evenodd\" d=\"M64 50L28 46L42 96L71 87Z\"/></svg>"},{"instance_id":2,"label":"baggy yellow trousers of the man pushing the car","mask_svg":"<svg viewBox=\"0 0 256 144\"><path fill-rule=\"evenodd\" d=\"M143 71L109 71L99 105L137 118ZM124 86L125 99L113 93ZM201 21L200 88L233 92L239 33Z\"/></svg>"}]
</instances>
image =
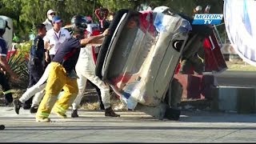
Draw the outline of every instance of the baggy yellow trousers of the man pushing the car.
<instances>
[{"instance_id":1,"label":"baggy yellow trousers of the man pushing the car","mask_svg":"<svg viewBox=\"0 0 256 144\"><path fill-rule=\"evenodd\" d=\"M62 89L64 94L58 99L58 94ZM77 78L68 77L65 68L60 63L51 62L50 74L46 84L46 94L38 107L36 118L48 118L53 107L55 113L66 115L66 110L74 102L77 94Z\"/></svg>"}]
</instances>

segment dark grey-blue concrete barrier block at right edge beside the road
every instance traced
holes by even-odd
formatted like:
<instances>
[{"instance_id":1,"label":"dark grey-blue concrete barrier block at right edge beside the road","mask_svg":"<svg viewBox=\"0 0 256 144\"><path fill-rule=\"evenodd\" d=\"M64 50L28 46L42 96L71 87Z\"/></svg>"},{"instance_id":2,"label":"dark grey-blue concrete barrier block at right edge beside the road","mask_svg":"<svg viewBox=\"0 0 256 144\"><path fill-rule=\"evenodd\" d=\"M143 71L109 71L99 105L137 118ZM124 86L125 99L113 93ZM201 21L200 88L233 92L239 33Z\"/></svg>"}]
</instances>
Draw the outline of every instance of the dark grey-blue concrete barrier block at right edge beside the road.
<instances>
[{"instance_id":1,"label":"dark grey-blue concrete barrier block at right edge beside the road","mask_svg":"<svg viewBox=\"0 0 256 144\"><path fill-rule=\"evenodd\" d=\"M212 87L214 96L211 109L214 111L252 114L256 112L255 87L217 86Z\"/></svg>"}]
</instances>

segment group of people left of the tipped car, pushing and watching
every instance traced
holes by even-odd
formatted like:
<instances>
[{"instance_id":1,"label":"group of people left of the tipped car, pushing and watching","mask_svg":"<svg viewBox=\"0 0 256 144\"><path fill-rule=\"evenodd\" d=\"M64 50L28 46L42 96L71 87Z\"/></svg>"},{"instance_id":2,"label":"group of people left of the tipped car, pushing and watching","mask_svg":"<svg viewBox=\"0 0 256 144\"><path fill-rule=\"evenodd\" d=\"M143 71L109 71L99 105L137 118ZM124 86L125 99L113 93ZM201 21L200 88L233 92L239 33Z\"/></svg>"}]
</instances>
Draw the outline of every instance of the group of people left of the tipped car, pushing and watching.
<instances>
[{"instance_id":1,"label":"group of people left of the tipped car, pushing and watching","mask_svg":"<svg viewBox=\"0 0 256 144\"><path fill-rule=\"evenodd\" d=\"M62 19L56 12L48 10L46 21L36 27L38 35L30 48L28 89L21 98L14 101L12 96L6 96L6 102L13 102L14 110L19 114L20 108L24 108L25 104L29 105L26 102L33 98L29 107L30 113L36 113L37 122L50 122L49 115L52 110L60 117L66 118L69 106L72 106L71 117L75 118L78 117L78 108L88 79L99 89L99 99L102 109L105 109L105 116L119 117L120 115L114 113L111 108L110 86L95 74L91 53L92 46L100 46L106 35L110 34L110 30L92 35L91 31L86 30L88 21L79 14L71 18L70 23L71 34L62 27ZM0 41L4 40L1 38ZM4 46L1 45L0 48L2 47ZM15 80L17 76L10 70L10 66L2 62L5 50L0 49L3 53L0 55L0 64L6 66L3 68Z\"/></svg>"}]
</instances>

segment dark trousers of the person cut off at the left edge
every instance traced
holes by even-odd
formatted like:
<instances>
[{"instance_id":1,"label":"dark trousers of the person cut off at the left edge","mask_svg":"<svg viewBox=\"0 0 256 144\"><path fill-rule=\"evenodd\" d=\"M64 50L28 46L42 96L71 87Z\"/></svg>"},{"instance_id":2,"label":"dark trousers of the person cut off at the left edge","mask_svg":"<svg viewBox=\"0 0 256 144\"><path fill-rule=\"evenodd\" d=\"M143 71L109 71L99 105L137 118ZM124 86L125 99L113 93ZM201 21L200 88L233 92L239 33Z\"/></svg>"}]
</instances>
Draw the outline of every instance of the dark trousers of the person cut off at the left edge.
<instances>
[{"instance_id":1,"label":"dark trousers of the person cut off at the left edge","mask_svg":"<svg viewBox=\"0 0 256 144\"><path fill-rule=\"evenodd\" d=\"M0 72L0 85L2 85L2 91L10 90L9 80L6 78L5 74L2 74L2 72ZM13 100L13 95L11 93L5 94L6 106L13 102Z\"/></svg>"}]
</instances>

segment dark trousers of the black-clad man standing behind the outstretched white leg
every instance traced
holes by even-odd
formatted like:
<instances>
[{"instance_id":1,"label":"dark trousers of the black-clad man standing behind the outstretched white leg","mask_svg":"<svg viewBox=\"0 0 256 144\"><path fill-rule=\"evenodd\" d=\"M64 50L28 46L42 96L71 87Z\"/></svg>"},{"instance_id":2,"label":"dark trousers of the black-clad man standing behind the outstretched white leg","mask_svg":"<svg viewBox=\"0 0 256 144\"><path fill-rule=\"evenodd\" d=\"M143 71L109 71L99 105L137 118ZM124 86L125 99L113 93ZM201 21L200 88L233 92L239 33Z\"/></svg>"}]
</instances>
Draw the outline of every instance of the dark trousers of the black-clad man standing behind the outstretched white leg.
<instances>
[{"instance_id":1,"label":"dark trousers of the black-clad man standing behind the outstretched white leg","mask_svg":"<svg viewBox=\"0 0 256 144\"><path fill-rule=\"evenodd\" d=\"M34 86L39 81L39 79L42 77L42 74L44 72L44 67L42 64L30 65L30 63L29 63L28 68L29 68L29 72L30 72L30 82L29 82L28 88L30 88L31 86ZM32 100L33 100L33 97L31 97L29 100L27 100L24 103L23 108L29 109L32 104Z\"/></svg>"}]
</instances>

